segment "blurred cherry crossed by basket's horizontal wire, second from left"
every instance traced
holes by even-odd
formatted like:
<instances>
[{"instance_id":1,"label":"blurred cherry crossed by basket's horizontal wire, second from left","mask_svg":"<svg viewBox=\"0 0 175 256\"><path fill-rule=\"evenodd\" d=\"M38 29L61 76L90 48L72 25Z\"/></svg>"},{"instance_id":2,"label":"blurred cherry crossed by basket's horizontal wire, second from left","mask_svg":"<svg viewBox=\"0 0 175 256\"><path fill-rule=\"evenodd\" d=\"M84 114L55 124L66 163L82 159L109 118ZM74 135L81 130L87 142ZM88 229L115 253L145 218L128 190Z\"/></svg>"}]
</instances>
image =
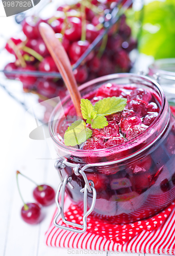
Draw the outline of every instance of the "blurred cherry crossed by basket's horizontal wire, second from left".
<instances>
[{"instance_id":1,"label":"blurred cherry crossed by basket's horizontal wire, second from left","mask_svg":"<svg viewBox=\"0 0 175 256\"><path fill-rule=\"evenodd\" d=\"M18 71L26 71L26 74L23 74L23 75L19 74L17 76L18 76L19 80L27 86L28 89L32 88L34 83L37 80L37 77L30 76L27 74L27 72L36 71L36 68L34 66L27 65L25 68L19 68Z\"/></svg>"}]
</instances>

